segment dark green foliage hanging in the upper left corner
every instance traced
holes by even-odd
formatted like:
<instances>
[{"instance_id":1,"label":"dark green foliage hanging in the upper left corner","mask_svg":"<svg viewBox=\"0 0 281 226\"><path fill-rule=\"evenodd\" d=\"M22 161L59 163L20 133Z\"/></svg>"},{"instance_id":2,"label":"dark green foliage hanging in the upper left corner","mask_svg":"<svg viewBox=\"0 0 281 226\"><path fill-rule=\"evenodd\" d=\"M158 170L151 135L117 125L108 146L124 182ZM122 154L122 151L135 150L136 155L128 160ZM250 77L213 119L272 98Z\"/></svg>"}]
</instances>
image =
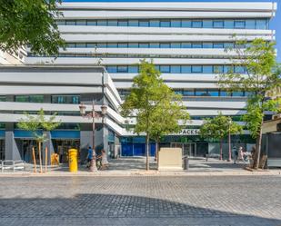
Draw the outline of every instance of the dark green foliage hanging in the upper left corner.
<instances>
[{"instance_id":1,"label":"dark green foliage hanging in the upper left corner","mask_svg":"<svg viewBox=\"0 0 281 226\"><path fill-rule=\"evenodd\" d=\"M55 24L60 0L1 0L0 50L16 52L27 44L31 52L57 55L65 47Z\"/></svg>"}]
</instances>

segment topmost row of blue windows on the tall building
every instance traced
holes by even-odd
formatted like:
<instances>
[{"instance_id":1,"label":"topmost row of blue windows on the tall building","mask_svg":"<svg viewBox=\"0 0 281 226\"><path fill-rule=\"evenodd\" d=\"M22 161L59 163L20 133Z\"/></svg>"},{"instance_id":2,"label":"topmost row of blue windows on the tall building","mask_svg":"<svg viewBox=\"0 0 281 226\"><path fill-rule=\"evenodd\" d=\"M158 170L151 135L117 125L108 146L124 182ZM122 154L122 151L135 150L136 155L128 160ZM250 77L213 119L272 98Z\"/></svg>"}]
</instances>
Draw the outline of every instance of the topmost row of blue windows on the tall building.
<instances>
[{"instance_id":1,"label":"topmost row of blue windows on the tall building","mask_svg":"<svg viewBox=\"0 0 281 226\"><path fill-rule=\"evenodd\" d=\"M57 20L57 25L268 29L268 19Z\"/></svg>"}]
</instances>

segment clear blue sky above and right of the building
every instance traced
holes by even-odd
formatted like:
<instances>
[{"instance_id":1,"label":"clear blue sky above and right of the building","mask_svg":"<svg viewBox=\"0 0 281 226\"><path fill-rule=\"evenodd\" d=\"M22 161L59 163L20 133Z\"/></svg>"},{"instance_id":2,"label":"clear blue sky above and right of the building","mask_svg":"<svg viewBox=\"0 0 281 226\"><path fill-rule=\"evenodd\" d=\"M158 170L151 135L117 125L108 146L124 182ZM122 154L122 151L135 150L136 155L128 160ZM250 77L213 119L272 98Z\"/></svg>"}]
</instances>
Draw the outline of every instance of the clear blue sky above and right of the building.
<instances>
[{"instance_id":1,"label":"clear blue sky above and right of the building","mask_svg":"<svg viewBox=\"0 0 281 226\"><path fill-rule=\"evenodd\" d=\"M278 2L277 0L63 0L63 2ZM271 29L276 30L278 62L281 63L281 1L277 5L276 17L270 23Z\"/></svg>"}]
</instances>

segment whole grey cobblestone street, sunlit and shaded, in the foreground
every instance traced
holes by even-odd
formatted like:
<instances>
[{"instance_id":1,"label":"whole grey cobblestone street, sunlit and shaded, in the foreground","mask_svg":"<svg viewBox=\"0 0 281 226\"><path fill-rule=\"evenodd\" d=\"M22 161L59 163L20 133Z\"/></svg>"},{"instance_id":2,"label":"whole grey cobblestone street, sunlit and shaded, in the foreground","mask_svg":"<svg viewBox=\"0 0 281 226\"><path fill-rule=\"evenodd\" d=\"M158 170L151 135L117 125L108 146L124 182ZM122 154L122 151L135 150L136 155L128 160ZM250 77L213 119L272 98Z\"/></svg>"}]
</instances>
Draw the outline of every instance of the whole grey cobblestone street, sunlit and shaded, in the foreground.
<instances>
[{"instance_id":1,"label":"whole grey cobblestone street, sunlit and shaded, in the foreground","mask_svg":"<svg viewBox=\"0 0 281 226\"><path fill-rule=\"evenodd\" d=\"M280 176L9 177L0 225L281 226Z\"/></svg>"}]
</instances>

